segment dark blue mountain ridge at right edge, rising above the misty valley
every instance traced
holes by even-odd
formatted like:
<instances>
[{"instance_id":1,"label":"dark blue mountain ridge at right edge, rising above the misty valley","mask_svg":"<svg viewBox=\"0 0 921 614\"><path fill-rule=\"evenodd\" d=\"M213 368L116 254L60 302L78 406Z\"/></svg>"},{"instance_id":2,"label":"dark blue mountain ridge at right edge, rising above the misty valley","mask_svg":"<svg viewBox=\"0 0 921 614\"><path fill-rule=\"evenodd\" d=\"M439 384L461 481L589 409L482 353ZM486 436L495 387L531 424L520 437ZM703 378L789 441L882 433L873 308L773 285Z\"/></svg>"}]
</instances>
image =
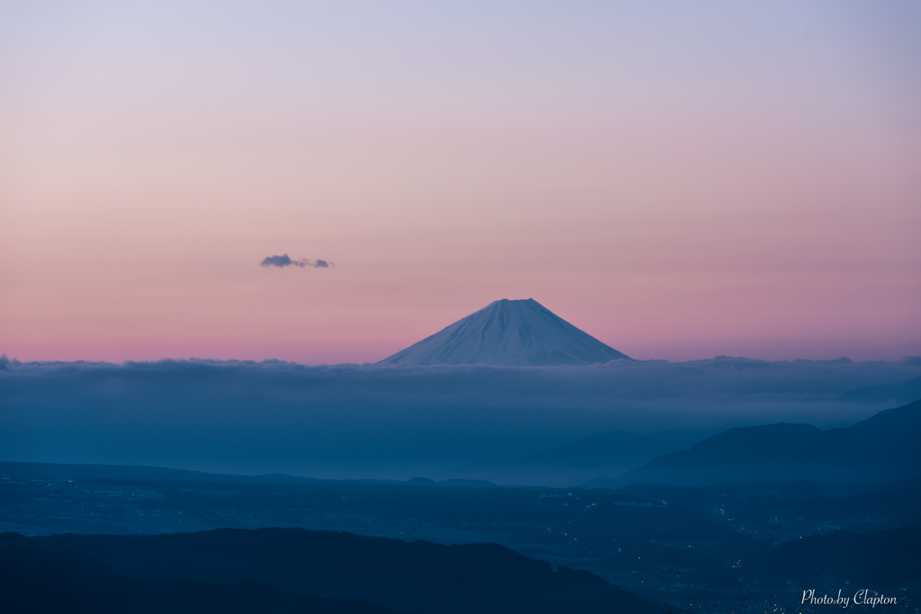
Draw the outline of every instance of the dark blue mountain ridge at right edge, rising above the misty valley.
<instances>
[{"instance_id":1,"label":"dark blue mountain ridge at right edge, rising above the misty valley","mask_svg":"<svg viewBox=\"0 0 921 614\"><path fill-rule=\"evenodd\" d=\"M655 458L588 488L633 483L699 486L717 481L813 480L832 485L909 480L921 473L921 400L880 411L850 428L810 424L729 429L690 450Z\"/></svg>"}]
</instances>

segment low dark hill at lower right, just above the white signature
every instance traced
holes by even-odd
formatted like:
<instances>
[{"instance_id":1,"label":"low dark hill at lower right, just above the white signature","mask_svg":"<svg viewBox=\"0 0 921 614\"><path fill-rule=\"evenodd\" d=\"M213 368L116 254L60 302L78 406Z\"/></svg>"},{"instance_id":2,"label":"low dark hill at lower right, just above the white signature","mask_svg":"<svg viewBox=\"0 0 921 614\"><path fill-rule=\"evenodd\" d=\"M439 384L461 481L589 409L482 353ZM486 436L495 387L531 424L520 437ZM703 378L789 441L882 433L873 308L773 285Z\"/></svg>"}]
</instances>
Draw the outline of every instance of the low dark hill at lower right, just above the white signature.
<instances>
[{"instance_id":1,"label":"low dark hill at lower right, just above the white signature","mask_svg":"<svg viewBox=\"0 0 921 614\"><path fill-rule=\"evenodd\" d=\"M921 578L921 526L888 531L810 535L753 555L754 566L803 585L846 580L861 587L891 586Z\"/></svg>"}]
</instances>

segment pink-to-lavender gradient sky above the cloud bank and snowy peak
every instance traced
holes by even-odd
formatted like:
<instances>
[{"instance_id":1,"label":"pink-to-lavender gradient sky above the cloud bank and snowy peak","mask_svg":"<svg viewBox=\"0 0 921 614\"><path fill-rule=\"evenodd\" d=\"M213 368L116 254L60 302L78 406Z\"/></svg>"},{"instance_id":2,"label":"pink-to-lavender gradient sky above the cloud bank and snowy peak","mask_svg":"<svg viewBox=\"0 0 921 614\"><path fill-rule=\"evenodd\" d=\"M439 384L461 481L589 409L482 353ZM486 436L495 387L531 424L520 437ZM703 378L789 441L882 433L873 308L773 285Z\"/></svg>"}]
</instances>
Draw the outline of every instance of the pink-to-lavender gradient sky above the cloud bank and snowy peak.
<instances>
[{"instance_id":1,"label":"pink-to-lavender gradient sky above the cloud bank and snowy peak","mask_svg":"<svg viewBox=\"0 0 921 614\"><path fill-rule=\"evenodd\" d=\"M0 353L921 354L919 110L916 2L6 2Z\"/></svg>"}]
</instances>

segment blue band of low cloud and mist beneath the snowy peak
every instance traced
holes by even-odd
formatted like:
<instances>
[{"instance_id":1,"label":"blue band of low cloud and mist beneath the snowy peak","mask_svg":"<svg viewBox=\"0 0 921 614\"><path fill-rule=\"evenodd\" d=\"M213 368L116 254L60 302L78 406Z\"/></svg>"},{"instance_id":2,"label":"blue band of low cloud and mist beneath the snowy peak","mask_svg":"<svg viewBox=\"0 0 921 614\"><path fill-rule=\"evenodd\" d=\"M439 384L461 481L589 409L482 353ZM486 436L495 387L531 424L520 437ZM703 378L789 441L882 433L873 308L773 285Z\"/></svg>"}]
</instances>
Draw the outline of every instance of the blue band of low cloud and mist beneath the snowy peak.
<instances>
[{"instance_id":1,"label":"blue band of low cloud and mist beneath the snowy peak","mask_svg":"<svg viewBox=\"0 0 921 614\"><path fill-rule=\"evenodd\" d=\"M842 393L919 376L916 358L579 367L4 361L0 458L406 479L618 429L853 423L900 403Z\"/></svg>"}]
</instances>

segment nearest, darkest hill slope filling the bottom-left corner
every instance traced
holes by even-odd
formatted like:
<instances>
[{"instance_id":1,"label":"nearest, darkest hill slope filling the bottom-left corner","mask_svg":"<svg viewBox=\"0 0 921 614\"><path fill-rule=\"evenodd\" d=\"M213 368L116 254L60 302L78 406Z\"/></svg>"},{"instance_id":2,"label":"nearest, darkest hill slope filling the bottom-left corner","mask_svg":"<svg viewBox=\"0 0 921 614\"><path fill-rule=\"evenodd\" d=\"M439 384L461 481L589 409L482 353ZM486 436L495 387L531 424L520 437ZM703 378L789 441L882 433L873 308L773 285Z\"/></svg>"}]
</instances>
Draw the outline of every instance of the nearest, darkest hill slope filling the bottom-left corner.
<instances>
[{"instance_id":1,"label":"nearest, darkest hill slope filling the bottom-left corner","mask_svg":"<svg viewBox=\"0 0 921 614\"><path fill-rule=\"evenodd\" d=\"M386 614L393 610L353 599L293 595L271 586L154 582L127 578L80 552L30 547L26 538L0 538L0 599L7 614L244 614L311 612Z\"/></svg>"}]
</instances>

